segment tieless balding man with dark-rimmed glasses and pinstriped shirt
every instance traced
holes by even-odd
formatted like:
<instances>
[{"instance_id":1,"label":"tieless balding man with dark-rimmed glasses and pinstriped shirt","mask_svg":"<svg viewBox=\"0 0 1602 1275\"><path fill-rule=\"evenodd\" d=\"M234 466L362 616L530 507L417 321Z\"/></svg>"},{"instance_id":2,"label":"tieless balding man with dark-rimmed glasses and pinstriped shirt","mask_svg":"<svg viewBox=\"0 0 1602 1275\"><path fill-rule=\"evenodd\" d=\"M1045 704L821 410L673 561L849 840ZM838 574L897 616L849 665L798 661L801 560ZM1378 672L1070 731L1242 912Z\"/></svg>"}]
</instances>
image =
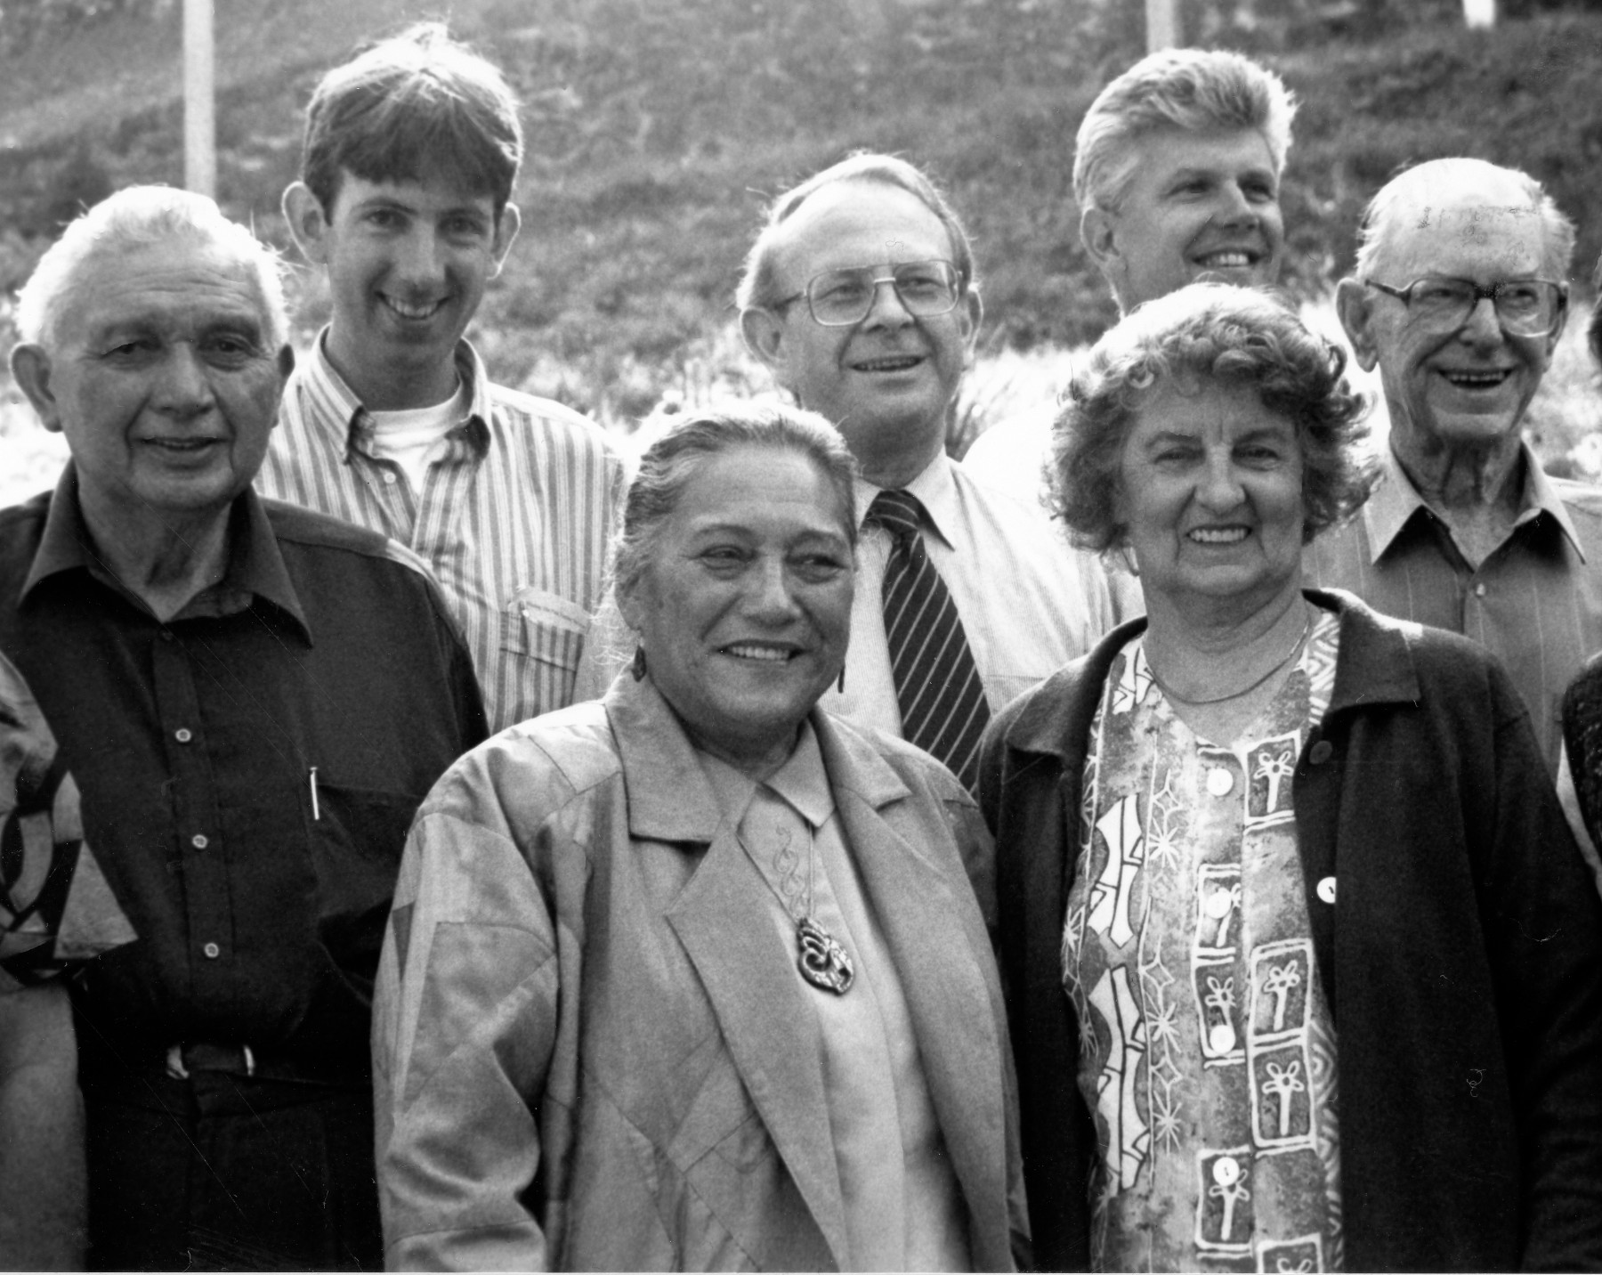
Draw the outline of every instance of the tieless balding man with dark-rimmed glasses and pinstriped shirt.
<instances>
[{"instance_id":1,"label":"tieless balding man with dark-rimmed glasses and pinstriped shirt","mask_svg":"<svg viewBox=\"0 0 1602 1275\"><path fill-rule=\"evenodd\" d=\"M1568 317L1573 223L1525 173L1421 163L1375 195L1336 308L1379 367L1386 481L1307 549L1310 583L1501 657L1557 767L1564 689L1602 649L1602 492L1519 426Z\"/></svg>"}]
</instances>

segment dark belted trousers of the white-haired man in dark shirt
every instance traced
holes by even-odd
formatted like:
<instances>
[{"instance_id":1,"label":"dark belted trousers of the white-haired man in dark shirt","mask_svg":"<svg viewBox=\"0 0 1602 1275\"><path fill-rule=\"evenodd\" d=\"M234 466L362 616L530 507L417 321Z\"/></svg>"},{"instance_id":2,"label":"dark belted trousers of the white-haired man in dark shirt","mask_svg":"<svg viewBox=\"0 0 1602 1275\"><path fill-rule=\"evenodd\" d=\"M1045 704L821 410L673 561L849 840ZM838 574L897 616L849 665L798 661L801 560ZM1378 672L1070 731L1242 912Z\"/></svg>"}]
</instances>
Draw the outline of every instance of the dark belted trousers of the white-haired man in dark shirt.
<instances>
[{"instance_id":1,"label":"dark belted trousers of the white-haired man in dark shirt","mask_svg":"<svg viewBox=\"0 0 1602 1275\"><path fill-rule=\"evenodd\" d=\"M83 1078L91 1270L381 1270L365 1086Z\"/></svg>"}]
</instances>

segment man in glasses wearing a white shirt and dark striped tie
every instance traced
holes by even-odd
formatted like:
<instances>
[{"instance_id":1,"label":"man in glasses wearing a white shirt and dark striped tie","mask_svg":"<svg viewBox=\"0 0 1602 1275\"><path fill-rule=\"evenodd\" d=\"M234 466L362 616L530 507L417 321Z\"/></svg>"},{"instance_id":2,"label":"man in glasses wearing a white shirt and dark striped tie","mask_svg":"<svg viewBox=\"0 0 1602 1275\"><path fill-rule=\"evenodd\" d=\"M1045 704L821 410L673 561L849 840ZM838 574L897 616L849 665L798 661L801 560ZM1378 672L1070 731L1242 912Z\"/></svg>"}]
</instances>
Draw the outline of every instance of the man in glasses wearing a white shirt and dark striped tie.
<instances>
[{"instance_id":1,"label":"man in glasses wearing a white shirt and dark striped tie","mask_svg":"<svg viewBox=\"0 0 1602 1275\"><path fill-rule=\"evenodd\" d=\"M823 706L972 786L990 714L1113 617L1096 559L945 455L984 314L968 235L913 165L857 154L774 200L737 301L751 351L862 465L851 647Z\"/></svg>"}]
</instances>

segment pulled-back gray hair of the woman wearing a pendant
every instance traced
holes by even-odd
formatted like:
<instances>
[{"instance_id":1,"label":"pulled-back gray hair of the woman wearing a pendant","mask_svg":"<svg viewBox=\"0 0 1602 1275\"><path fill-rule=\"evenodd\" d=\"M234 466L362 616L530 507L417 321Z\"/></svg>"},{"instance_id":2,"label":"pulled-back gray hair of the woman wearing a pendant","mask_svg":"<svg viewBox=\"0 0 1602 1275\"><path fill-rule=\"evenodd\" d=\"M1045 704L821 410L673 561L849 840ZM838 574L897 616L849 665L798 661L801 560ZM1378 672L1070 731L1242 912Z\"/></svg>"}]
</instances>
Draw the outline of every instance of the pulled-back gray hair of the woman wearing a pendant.
<instances>
[{"instance_id":1,"label":"pulled-back gray hair of the woman wearing a pendant","mask_svg":"<svg viewBox=\"0 0 1602 1275\"><path fill-rule=\"evenodd\" d=\"M811 460L839 497L844 532L857 545L857 460L839 432L815 412L753 402L726 402L671 420L639 458L623 501L623 525L612 541L612 583L622 596L641 580L662 529L697 466L735 447L795 452Z\"/></svg>"}]
</instances>

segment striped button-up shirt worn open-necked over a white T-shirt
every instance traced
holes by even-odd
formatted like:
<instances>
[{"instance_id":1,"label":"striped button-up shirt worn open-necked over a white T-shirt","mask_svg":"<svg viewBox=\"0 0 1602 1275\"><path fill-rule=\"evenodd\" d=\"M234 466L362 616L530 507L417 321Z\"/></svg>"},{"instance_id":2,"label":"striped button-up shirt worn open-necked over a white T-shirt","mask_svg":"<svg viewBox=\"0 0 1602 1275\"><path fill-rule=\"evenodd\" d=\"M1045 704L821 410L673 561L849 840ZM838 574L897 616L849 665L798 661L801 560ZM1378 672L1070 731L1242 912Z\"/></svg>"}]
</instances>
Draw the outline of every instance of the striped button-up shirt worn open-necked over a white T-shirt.
<instances>
[{"instance_id":1,"label":"striped button-up shirt worn open-necked over a white T-shirt","mask_svg":"<svg viewBox=\"0 0 1602 1275\"><path fill-rule=\"evenodd\" d=\"M457 348L471 404L413 492L373 455L373 421L324 354L324 336L284 391L256 485L383 532L439 577L484 690L490 729L574 697L623 463L601 428L561 404L492 384Z\"/></svg>"}]
</instances>

